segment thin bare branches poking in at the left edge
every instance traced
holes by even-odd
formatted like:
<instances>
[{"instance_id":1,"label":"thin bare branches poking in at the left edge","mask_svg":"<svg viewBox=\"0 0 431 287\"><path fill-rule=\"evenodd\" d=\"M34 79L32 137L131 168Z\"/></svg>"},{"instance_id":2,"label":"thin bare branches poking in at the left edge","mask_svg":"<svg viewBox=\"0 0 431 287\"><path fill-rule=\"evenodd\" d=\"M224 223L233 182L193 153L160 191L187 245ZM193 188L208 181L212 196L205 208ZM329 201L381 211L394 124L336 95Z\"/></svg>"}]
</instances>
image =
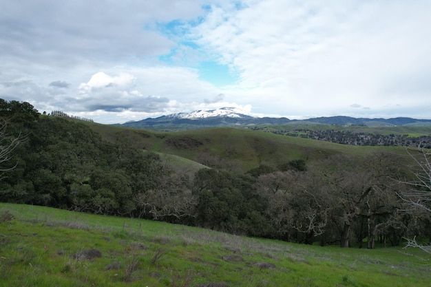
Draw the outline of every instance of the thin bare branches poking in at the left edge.
<instances>
[{"instance_id":1,"label":"thin bare branches poking in at the left edge","mask_svg":"<svg viewBox=\"0 0 431 287\"><path fill-rule=\"evenodd\" d=\"M18 136L8 134L7 127L8 123L6 121L0 122L0 180L3 178L3 173L17 167L18 162L12 164L12 166L7 166L6 163L11 160L14 149L25 140L25 136L22 134Z\"/></svg>"}]
</instances>

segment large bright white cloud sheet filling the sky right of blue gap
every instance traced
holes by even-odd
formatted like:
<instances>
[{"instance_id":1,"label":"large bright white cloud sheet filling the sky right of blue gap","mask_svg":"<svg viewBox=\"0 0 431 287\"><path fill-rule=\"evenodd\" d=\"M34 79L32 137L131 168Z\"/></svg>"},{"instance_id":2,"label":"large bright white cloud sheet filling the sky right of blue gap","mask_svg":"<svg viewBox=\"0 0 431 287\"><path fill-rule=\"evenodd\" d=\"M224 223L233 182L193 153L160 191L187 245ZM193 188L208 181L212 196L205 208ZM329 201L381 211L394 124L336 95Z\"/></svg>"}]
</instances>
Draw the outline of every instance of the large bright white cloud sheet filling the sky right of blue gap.
<instances>
[{"instance_id":1,"label":"large bright white cloud sheet filling the sky right of blue gap","mask_svg":"<svg viewBox=\"0 0 431 287\"><path fill-rule=\"evenodd\" d=\"M427 1L267 0L240 10L221 4L192 32L240 71L236 92L253 106L277 114L341 114L360 99L383 111L412 94L430 103L416 92L429 92L429 81L410 80L431 72L430 8ZM402 92L387 92L400 85Z\"/></svg>"}]
</instances>

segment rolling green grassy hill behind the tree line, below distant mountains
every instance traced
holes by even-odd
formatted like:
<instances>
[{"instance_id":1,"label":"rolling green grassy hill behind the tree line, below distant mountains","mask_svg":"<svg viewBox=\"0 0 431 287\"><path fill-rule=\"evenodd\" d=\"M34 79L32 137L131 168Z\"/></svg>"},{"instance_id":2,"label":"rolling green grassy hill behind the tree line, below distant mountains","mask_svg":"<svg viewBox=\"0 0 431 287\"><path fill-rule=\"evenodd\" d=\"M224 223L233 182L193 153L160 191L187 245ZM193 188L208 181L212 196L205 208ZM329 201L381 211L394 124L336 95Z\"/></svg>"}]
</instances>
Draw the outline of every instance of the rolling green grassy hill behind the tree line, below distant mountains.
<instances>
[{"instance_id":1,"label":"rolling green grassy hill behind the tree line, below distant mountains","mask_svg":"<svg viewBox=\"0 0 431 287\"><path fill-rule=\"evenodd\" d=\"M335 153L358 155L373 151L405 153L402 147L353 147L249 129L213 128L166 133L88 124L103 138L112 142L119 139L128 140L138 148L199 162L202 162L204 157L219 158L224 160L224 164L229 165L231 169L240 172L253 169L259 164L275 167L277 164L297 159L303 159L309 163ZM202 145L194 145L190 139L201 142ZM173 145L172 142L178 142L178 145Z\"/></svg>"}]
</instances>

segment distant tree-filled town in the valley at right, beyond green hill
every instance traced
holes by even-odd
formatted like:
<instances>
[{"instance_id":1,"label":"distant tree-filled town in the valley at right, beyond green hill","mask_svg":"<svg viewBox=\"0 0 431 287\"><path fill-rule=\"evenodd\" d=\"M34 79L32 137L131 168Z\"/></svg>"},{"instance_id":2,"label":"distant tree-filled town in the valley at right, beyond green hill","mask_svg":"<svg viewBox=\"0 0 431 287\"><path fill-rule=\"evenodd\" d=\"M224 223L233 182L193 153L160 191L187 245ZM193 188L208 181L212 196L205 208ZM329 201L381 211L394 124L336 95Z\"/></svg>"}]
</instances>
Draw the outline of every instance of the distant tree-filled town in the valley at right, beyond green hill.
<instances>
[{"instance_id":1,"label":"distant tree-filled town in the valley at right, beyond green hill","mask_svg":"<svg viewBox=\"0 0 431 287\"><path fill-rule=\"evenodd\" d=\"M337 131L329 130L310 130L298 129L292 131L275 131L275 134L284 134L286 136L299 136L300 138L311 138L313 140L324 140L335 142L341 145L371 145L371 146L401 146L421 145L427 149L431 148L431 136L410 137L406 134L368 134L354 131Z\"/></svg>"}]
</instances>

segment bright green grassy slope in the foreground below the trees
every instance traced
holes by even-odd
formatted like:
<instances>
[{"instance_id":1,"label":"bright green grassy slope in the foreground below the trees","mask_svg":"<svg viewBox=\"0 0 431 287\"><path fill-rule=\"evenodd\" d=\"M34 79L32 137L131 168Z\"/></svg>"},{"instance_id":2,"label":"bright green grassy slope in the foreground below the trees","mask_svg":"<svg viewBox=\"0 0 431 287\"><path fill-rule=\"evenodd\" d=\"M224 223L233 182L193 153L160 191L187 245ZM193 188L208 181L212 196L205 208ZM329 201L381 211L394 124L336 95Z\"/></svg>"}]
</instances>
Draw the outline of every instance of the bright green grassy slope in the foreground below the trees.
<instances>
[{"instance_id":1,"label":"bright green grassy slope in the foreground below the trees","mask_svg":"<svg viewBox=\"0 0 431 287\"><path fill-rule=\"evenodd\" d=\"M0 203L0 286L430 286L416 249L341 249Z\"/></svg>"}]
</instances>

